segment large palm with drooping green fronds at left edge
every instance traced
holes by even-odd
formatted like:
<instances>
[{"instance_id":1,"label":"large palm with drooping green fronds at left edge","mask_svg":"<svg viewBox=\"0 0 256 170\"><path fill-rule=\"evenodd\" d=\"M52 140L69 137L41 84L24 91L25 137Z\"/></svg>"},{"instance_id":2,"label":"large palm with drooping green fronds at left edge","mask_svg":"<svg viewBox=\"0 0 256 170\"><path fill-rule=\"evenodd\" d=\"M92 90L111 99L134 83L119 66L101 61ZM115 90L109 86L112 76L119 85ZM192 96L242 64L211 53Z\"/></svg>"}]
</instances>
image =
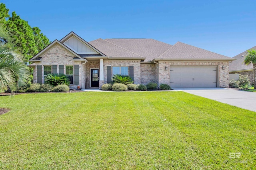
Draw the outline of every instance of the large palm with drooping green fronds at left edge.
<instances>
[{"instance_id":1,"label":"large palm with drooping green fronds at left edge","mask_svg":"<svg viewBox=\"0 0 256 170\"><path fill-rule=\"evenodd\" d=\"M30 80L28 67L15 40L14 34L0 25L0 92L13 92Z\"/></svg>"}]
</instances>

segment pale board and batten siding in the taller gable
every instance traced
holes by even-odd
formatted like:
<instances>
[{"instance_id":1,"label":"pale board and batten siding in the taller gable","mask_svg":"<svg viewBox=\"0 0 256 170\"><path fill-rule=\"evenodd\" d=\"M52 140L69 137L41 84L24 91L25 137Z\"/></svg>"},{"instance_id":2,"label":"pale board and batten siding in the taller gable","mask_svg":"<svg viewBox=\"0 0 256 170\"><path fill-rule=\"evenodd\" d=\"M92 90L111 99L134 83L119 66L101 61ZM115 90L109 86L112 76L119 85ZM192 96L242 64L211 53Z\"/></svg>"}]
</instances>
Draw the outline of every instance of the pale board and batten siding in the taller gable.
<instances>
[{"instance_id":1,"label":"pale board and batten siding in the taller gable","mask_svg":"<svg viewBox=\"0 0 256 170\"><path fill-rule=\"evenodd\" d=\"M76 53L90 53L90 54L98 54L96 51L88 47L82 41L77 39L76 37L72 36L70 39L64 42L65 45L70 47Z\"/></svg>"}]
</instances>

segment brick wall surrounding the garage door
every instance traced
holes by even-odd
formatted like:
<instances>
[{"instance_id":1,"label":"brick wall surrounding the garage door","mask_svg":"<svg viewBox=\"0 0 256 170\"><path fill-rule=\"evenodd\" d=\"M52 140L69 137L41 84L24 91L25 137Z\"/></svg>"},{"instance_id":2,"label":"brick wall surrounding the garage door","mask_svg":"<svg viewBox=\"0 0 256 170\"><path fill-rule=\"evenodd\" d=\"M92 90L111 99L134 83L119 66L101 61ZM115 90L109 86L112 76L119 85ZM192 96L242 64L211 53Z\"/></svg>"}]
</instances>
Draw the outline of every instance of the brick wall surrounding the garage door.
<instances>
[{"instance_id":1,"label":"brick wall surrounding the garage door","mask_svg":"<svg viewBox=\"0 0 256 170\"><path fill-rule=\"evenodd\" d=\"M167 70L165 67L167 66ZM159 83L170 85L170 66L217 66L219 84L218 87L227 88L228 84L228 61L159 61ZM224 69L222 69L224 66Z\"/></svg>"}]
</instances>

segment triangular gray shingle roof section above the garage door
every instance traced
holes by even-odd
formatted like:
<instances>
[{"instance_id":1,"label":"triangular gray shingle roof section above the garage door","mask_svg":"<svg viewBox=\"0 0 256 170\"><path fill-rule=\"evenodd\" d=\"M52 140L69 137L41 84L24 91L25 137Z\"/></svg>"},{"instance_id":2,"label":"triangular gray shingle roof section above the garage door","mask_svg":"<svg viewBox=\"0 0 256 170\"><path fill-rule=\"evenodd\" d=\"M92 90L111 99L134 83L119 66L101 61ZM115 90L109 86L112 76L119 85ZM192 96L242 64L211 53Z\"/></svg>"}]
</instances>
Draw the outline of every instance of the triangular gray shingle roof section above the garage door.
<instances>
[{"instance_id":1,"label":"triangular gray shingle roof section above the garage door","mask_svg":"<svg viewBox=\"0 0 256 170\"><path fill-rule=\"evenodd\" d=\"M158 59L230 59L224 55L213 53L192 45L177 42L162 55L157 57Z\"/></svg>"}]
</instances>

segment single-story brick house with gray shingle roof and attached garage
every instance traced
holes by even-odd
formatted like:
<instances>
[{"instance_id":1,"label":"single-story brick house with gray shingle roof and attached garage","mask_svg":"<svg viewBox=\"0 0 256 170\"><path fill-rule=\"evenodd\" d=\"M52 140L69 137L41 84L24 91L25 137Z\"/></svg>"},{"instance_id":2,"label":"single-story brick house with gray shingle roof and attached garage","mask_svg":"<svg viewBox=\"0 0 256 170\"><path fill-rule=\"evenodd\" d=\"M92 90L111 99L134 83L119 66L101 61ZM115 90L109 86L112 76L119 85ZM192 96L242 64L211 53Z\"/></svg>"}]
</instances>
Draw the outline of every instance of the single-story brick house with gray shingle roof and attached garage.
<instances>
[{"instance_id":1,"label":"single-story brick house with gray shingle roof and attached garage","mask_svg":"<svg viewBox=\"0 0 256 170\"><path fill-rule=\"evenodd\" d=\"M71 84L100 88L114 74L134 84L156 82L174 87L228 87L228 62L234 59L177 42L154 39L96 39L86 42L74 32L55 40L32 59L34 83L49 73L64 73Z\"/></svg>"}]
</instances>

